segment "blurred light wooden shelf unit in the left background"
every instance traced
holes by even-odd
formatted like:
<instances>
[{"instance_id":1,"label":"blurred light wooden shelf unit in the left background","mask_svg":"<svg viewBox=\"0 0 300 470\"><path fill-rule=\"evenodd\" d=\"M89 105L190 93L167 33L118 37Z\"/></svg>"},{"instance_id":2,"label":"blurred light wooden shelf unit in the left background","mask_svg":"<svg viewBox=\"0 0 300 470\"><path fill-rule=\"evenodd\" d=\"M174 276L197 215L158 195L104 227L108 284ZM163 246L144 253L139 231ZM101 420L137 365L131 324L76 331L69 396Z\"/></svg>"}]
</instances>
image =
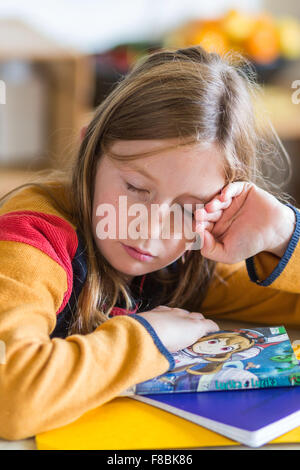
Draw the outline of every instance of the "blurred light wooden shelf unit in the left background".
<instances>
[{"instance_id":1,"label":"blurred light wooden shelf unit in the left background","mask_svg":"<svg viewBox=\"0 0 300 470\"><path fill-rule=\"evenodd\" d=\"M1 20L0 64L12 60L38 64L43 70L49 90L48 142L38 164L27 164L25 168L19 164L17 168L0 166L0 197L27 180L35 169L62 168L69 162L79 143L80 127L90 111L94 90L89 56L62 47L20 21Z\"/></svg>"}]
</instances>

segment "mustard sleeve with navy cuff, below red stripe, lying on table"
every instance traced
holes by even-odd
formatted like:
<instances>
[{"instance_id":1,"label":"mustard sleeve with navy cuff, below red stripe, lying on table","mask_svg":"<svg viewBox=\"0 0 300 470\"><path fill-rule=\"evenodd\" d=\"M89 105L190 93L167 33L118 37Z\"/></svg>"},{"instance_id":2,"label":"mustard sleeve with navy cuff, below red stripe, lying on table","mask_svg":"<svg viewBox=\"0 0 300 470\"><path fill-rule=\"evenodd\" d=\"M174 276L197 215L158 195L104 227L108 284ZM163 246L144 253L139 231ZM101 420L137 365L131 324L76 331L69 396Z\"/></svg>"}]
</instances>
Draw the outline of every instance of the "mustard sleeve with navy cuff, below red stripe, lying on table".
<instances>
[{"instance_id":1,"label":"mustard sleeve with navy cuff, below red stripe, lying on table","mask_svg":"<svg viewBox=\"0 0 300 470\"><path fill-rule=\"evenodd\" d=\"M0 241L1 438L68 424L170 367L139 318L118 316L90 334L50 339L67 292L64 264L28 243Z\"/></svg>"}]
</instances>

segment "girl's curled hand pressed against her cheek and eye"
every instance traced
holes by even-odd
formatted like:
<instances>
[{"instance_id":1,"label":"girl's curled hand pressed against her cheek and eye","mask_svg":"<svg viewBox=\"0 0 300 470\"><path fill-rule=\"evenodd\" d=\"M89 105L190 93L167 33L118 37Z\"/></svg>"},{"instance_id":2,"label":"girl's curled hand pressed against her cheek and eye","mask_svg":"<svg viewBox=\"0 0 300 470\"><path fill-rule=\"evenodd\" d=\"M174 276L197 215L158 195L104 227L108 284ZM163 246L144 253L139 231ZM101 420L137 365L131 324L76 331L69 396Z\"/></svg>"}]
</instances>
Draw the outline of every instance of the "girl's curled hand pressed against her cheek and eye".
<instances>
[{"instance_id":1,"label":"girl's curled hand pressed against her cheek and eye","mask_svg":"<svg viewBox=\"0 0 300 470\"><path fill-rule=\"evenodd\" d=\"M290 207L243 181L225 186L196 213L196 230L203 236L201 254L227 264L261 251L282 257L295 228L295 214ZM213 224L210 230L203 225L205 222Z\"/></svg>"}]
</instances>

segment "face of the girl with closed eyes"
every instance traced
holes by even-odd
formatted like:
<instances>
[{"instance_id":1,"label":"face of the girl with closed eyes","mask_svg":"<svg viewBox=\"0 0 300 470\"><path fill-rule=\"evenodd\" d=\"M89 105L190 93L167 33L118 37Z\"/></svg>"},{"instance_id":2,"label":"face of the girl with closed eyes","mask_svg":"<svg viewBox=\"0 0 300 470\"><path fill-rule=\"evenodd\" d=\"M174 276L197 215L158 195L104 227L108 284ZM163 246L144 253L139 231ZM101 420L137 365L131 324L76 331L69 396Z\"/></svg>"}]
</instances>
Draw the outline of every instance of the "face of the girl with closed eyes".
<instances>
[{"instance_id":1,"label":"face of the girl with closed eyes","mask_svg":"<svg viewBox=\"0 0 300 470\"><path fill-rule=\"evenodd\" d=\"M118 155L136 154L163 149L175 142L175 139L118 141L113 144L112 151ZM149 177L143 175L141 170L147 172ZM143 191L133 191L128 185ZM194 211L196 204L208 202L224 185L223 158L214 144L193 144L164 150L131 162L116 161L103 155L95 176L95 242L107 261L129 281L135 276L160 270L183 255L186 244L193 241L188 235L192 233L191 229L195 231L190 215L182 210L177 219L181 220L181 224L178 225L173 213L169 212L170 208L176 203L176 207L182 208L185 204L192 204L186 206L186 210ZM123 207L119 204L120 196L123 196ZM103 204L108 206L105 208ZM142 212L130 212L134 204L141 205ZM159 208L156 215L151 213L155 210L154 205ZM99 207L103 209L101 213ZM114 215L112 209L115 211L115 216L109 219L108 212L105 212L108 207L111 216ZM171 223L168 223L169 218ZM148 223L145 225L146 220ZM113 226L114 230L111 231ZM120 232L124 227L125 234ZM163 227L168 227L167 233L163 234ZM103 231L109 231L109 238L99 238L99 233ZM134 233L139 238L134 238ZM136 259L124 245L150 252L152 256L146 260Z\"/></svg>"}]
</instances>

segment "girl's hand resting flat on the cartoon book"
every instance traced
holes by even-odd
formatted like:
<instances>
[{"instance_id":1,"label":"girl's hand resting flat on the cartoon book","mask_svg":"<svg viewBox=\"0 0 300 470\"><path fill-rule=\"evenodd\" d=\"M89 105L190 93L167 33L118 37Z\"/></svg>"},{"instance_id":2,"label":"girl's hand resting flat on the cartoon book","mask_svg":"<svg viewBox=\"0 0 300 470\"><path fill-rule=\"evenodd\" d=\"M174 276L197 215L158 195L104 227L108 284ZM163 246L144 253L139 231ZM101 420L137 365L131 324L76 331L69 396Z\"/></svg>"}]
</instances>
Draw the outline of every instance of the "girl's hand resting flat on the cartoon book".
<instances>
[{"instance_id":1,"label":"girl's hand resting flat on the cartoon book","mask_svg":"<svg viewBox=\"0 0 300 470\"><path fill-rule=\"evenodd\" d=\"M170 352L187 348L207 333L219 330L218 325L212 320L205 319L202 313L188 312L165 305L138 315L150 323Z\"/></svg>"}]
</instances>

